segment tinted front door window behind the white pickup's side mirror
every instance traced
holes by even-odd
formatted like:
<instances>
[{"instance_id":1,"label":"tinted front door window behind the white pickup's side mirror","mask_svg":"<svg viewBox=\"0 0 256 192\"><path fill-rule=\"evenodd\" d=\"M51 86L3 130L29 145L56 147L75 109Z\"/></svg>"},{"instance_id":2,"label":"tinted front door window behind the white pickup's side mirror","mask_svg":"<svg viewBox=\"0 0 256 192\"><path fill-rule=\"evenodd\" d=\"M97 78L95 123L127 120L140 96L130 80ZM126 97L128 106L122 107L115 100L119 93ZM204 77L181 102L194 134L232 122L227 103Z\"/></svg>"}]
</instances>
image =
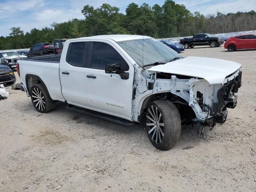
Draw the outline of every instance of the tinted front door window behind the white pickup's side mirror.
<instances>
[{"instance_id":1,"label":"tinted front door window behind the white pickup's side mirror","mask_svg":"<svg viewBox=\"0 0 256 192\"><path fill-rule=\"evenodd\" d=\"M129 70L126 61L112 46L106 43L94 42L92 46L92 68L105 70L106 64L110 63L120 63L122 70Z\"/></svg>"}]
</instances>

